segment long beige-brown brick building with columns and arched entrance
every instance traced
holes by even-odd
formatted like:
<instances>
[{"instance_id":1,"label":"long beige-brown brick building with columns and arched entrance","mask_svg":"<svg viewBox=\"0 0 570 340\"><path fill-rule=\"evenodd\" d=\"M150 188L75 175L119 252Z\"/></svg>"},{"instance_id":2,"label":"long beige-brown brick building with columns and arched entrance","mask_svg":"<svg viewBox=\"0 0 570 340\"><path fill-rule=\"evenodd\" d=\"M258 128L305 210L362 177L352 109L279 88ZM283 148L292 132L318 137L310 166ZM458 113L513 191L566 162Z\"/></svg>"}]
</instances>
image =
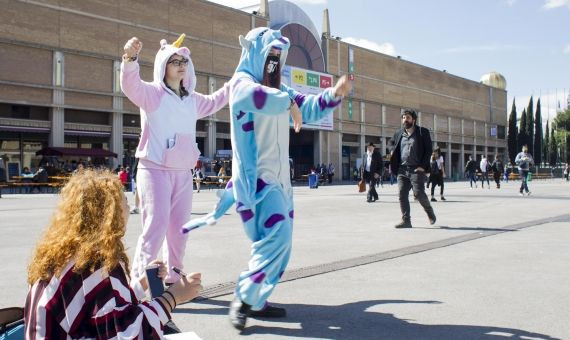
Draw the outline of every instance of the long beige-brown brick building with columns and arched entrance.
<instances>
[{"instance_id":1,"label":"long beige-brown brick building with columns and arched entrance","mask_svg":"<svg viewBox=\"0 0 570 340\"><path fill-rule=\"evenodd\" d=\"M234 72L241 54L237 37L259 26L280 28L291 39L295 52L288 64L335 79L353 67L354 93L335 110L333 130L291 134L297 174L332 163L335 179L349 179L366 143L387 152L402 108L419 112L419 124L431 130L449 174L462 174L467 155L505 155L504 89L335 39L326 12L326 27L316 36L301 9L276 3L261 1L255 13L247 13L200 0L6 1L0 12L0 156L8 175L36 167L35 153L46 146L106 149L119 155L107 160L110 166L133 162L139 110L118 81L129 38L142 40L141 75L151 80L159 41L186 33L196 90L212 93ZM295 7L287 13L304 20L283 16L279 6ZM303 34L311 39L301 39ZM229 122L227 108L198 121L205 156L231 149Z\"/></svg>"}]
</instances>

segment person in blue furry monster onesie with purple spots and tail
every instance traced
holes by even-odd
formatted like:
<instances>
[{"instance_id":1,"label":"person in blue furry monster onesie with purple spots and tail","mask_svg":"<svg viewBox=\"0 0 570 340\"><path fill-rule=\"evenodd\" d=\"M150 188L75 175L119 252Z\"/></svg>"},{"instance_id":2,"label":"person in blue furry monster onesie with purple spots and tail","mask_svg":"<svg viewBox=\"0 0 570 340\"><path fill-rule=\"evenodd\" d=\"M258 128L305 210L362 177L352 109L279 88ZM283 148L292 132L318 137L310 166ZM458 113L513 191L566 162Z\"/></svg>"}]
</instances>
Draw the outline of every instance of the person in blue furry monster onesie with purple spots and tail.
<instances>
[{"instance_id":1,"label":"person in blue furry monster onesie with purple spots and tail","mask_svg":"<svg viewBox=\"0 0 570 340\"><path fill-rule=\"evenodd\" d=\"M217 219L236 203L252 241L230 305L233 326L244 329L249 316L283 317L267 299L287 267L293 231L293 190L289 178L289 113L296 132L302 122L329 114L351 89L346 76L334 88L305 96L281 84L289 40L281 32L256 28L239 37L241 59L230 81L232 179L207 216L189 221L188 232Z\"/></svg>"}]
</instances>

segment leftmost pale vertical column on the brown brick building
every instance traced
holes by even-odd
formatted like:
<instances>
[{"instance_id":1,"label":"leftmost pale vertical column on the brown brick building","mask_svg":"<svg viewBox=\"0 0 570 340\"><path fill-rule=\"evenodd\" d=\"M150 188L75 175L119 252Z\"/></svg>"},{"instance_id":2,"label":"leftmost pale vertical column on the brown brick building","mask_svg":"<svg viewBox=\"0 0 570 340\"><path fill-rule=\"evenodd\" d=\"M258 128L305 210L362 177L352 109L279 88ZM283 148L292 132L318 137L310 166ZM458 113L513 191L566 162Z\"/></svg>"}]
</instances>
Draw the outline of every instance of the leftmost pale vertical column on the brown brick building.
<instances>
[{"instance_id":1,"label":"leftmost pale vertical column on the brown brick building","mask_svg":"<svg viewBox=\"0 0 570 340\"><path fill-rule=\"evenodd\" d=\"M51 131L49 135L49 146L62 147L65 145L65 92L61 89L65 80L65 60L63 52L53 52L53 104L50 110Z\"/></svg>"}]
</instances>

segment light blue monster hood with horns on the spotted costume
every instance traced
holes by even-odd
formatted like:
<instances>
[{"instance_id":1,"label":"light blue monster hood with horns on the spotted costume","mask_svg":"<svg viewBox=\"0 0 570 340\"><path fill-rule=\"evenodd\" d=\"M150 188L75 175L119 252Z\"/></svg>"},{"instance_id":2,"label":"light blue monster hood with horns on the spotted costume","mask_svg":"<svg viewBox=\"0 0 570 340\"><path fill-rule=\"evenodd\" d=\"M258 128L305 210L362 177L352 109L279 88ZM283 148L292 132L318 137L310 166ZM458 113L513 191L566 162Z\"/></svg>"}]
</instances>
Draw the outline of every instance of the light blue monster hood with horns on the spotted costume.
<instances>
[{"instance_id":1,"label":"light blue monster hood with horns on the spotted costume","mask_svg":"<svg viewBox=\"0 0 570 340\"><path fill-rule=\"evenodd\" d=\"M245 37L239 36L239 44L242 50L236 73L248 73L258 82L261 82L263 80L263 66L272 47L281 50L280 64L281 70L283 70L290 44L289 39L281 35L281 31L267 27L254 28Z\"/></svg>"}]
</instances>

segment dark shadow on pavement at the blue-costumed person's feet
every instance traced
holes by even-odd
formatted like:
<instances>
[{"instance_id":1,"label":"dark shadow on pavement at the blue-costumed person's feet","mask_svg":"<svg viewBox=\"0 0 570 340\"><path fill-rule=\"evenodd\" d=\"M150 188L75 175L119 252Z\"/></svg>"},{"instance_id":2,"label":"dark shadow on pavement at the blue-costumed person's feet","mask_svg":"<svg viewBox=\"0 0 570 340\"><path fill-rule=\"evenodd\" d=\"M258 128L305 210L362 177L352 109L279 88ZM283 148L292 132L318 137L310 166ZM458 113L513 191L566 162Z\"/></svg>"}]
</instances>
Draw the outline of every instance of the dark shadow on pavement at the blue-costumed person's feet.
<instances>
[{"instance_id":1,"label":"dark shadow on pavement at the blue-costumed person's feet","mask_svg":"<svg viewBox=\"0 0 570 340\"><path fill-rule=\"evenodd\" d=\"M224 308L177 311L192 314L226 315L227 301L202 300L200 304ZM264 319L279 323L298 324L294 328L249 326L242 336L271 334L300 338L326 339L556 339L545 334L520 329L473 325L423 325L413 320L399 319L390 313L368 311L386 304L440 304L438 301L370 300L340 306L277 305L287 309L287 317Z\"/></svg>"}]
</instances>

